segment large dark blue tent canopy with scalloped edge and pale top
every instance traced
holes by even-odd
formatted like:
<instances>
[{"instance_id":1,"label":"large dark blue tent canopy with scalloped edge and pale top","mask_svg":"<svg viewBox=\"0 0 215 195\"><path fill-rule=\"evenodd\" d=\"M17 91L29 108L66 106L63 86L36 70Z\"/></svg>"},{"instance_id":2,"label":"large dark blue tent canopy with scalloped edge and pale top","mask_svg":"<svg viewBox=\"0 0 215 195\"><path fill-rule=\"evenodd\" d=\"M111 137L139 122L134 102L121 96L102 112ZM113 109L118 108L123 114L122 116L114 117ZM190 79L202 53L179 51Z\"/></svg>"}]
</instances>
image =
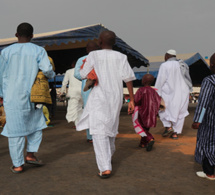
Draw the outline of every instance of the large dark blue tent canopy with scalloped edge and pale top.
<instances>
[{"instance_id":1,"label":"large dark blue tent canopy with scalloped edge and pale top","mask_svg":"<svg viewBox=\"0 0 215 195\"><path fill-rule=\"evenodd\" d=\"M86 55L86 45L89 41L98 41L99 34L108 30L102 24L85 26L34 35L32 43L42 46L53 58L57 73L65 72L74 60ZM0 51L6 46L17 42L16 38L0 39ZM116 38L114 50L128 56L131 67L147 66L148 60L139 52Z\"/></svg>"}]
</instances>

